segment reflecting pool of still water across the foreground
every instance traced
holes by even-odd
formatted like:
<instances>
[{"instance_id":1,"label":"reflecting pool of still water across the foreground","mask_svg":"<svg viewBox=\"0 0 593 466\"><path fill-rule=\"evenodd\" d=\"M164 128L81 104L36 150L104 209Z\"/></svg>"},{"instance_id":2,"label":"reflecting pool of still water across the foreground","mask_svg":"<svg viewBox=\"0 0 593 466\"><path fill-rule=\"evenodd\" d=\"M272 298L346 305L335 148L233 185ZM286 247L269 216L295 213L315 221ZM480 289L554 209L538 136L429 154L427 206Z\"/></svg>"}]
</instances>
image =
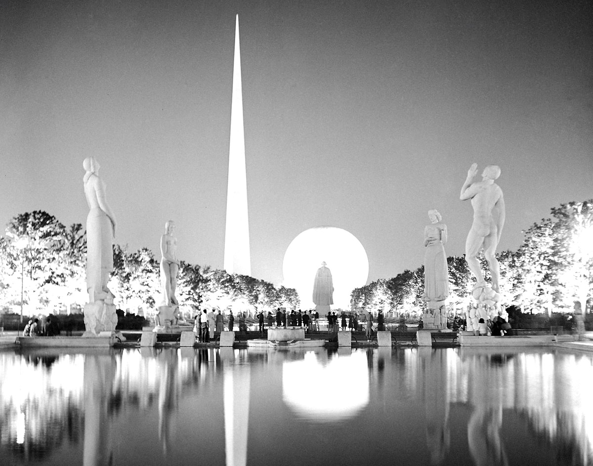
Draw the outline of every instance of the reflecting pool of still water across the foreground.
<instances>
[{"instance_id":1,"label":"reflecting pool of still water across the foreground","mask_svg":"<svg viewBox=\"0 0 593 466\"><path fill-rule=\"evenodd\" d=\"M593 355L0 352L2 465L593 464Z\"/></svg>"}]
</instances>

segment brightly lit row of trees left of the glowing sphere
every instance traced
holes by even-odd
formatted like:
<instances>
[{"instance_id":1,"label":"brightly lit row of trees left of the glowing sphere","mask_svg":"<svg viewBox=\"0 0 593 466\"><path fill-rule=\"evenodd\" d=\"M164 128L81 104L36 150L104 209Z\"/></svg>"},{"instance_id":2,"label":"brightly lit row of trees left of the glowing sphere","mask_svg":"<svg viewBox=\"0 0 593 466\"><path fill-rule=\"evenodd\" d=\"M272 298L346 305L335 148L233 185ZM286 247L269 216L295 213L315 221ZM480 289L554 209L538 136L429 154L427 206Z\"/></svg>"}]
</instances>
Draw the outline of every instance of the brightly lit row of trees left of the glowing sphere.
<instances>
[{"instance_id":1,"label":"brightly lit row of trees left of the glowing sphere","mask_svg":"<svg viewBox=\"0 0 593 466\"><path fill-rule=\"evenodd\" d=\"M77 223L67 229L43 211L20 214L9 221L0 237L0 304L33 307L84 306L86 234ZM21 277L23 272L23 277ZM154 308L161 300L159 262L148 248L135 252L113 246L113 275L109 288L121 308ZM292 288L274 287L247 275L228 274L209 266L181 261L177 299L186 308L202 306L271 309L298 307Z\"/></svg>"}]
</instances>

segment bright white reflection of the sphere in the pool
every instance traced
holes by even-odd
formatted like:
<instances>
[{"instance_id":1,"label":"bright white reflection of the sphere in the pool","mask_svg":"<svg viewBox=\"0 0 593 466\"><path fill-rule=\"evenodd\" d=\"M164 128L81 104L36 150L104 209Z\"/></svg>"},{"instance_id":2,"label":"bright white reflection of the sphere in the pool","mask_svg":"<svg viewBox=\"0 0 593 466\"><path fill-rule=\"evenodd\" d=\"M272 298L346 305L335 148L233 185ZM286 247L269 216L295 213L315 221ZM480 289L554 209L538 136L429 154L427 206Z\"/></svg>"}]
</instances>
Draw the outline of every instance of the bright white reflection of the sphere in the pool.
<instances>
[{"instance_id":1,"label":"bright white reflection of the sphere in the pool","mask_svg":"<svg viewBox=\"0 0 593 466\"><path fill-rule=\"evenodd\" d=\"M315 396L305 396L311 388ZM355 417L369 403L365 354L334 356L323 364L314 352L309 352L302 361L284 362L282 399L297 416L313 422L340 422Z\"/></svg>"}]
</instances>

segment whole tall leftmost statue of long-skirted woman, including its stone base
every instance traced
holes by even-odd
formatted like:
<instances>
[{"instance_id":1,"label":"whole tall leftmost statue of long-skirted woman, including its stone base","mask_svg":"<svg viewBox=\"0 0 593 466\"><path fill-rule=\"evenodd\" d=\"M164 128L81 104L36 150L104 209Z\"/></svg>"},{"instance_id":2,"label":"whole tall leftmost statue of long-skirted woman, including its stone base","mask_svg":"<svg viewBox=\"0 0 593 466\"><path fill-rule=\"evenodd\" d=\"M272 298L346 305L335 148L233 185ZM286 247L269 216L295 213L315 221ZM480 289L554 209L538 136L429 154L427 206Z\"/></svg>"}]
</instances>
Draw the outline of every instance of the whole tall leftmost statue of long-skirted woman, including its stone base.
<instances>
[{"instance_id":1,"label":"whole tall leftmost statue of long-skirted woman, including its stone base","mask_svg":"<svg viewBox=\"0 0 593 466\"><path fill-rule=\"evenodd\" d=\"M113 237L116 220L105 195L105 183L99 178L99 163L94 157L82 162L84 195L90 209L87 216L87 291L89 303L84 308L86 335L113 331L117 314L113 294L107 288L113 270Z\"/></svg>"}]
</instances>

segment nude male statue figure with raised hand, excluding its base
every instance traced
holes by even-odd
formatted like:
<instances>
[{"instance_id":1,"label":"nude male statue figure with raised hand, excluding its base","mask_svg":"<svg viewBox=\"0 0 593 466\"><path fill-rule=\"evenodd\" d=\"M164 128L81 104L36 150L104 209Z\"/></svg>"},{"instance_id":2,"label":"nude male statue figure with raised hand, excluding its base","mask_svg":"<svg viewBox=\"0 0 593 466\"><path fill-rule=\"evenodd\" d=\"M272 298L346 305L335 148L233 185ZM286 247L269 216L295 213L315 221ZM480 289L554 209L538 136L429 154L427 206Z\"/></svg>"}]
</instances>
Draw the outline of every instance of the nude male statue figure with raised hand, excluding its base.
<instances>
[{"instance_id":1,"label":"nude male statue figure with raised hand, excluding its base","mask_svg":"<svg viewBox=\"0 0 593 466\"><path fill-rule=\"evenodd\" d=\"M467 171L466 182L461 187L459 196L462 201L470 199L471 207L474 208L474 221L466 240L466 261L476 277L476 286L485 286L486 281L477 259L480 249L484 248L484 257L492 275L492 289L498 292L500 268L495 252L505 224L505 200L502 189L494 182L500 176L500 168L488 165L482 172L482 181L472 182L477 172L477 163L473 163Z\"/></svg>"}]
</instances>

